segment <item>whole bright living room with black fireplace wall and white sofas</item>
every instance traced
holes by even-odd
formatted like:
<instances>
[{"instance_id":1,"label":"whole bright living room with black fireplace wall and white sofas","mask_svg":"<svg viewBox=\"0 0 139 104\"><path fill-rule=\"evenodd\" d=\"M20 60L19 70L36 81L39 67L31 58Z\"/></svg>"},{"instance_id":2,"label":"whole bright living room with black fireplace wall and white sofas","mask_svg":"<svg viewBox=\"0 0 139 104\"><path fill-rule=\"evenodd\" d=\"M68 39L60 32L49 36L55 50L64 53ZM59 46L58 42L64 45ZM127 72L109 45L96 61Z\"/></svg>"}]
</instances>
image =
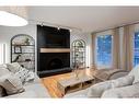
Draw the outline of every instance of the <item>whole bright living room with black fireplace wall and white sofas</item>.
<instances>
[{"instance_id":1,"label":"whole bright living room with black fireplace wall and white sofas","mask_svg":"<svg viewBox=\"0 0 139 104\"><path fill-rule=\"evenodd\" d=\"M139 97L139 7L0 10L1 97Z\"/></svg>"}]
</instances>

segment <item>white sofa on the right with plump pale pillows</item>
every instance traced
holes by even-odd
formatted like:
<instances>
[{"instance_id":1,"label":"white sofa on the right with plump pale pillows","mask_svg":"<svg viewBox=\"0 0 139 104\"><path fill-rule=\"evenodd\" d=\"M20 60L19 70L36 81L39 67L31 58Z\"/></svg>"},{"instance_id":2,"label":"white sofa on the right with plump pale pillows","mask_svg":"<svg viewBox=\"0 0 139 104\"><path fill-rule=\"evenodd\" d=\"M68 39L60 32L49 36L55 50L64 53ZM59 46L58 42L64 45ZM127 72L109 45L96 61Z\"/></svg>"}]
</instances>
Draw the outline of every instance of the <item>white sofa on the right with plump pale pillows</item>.
<instances>
[{"instance_id":1,"label":"white sofa on the right with plump pale pillows","mask_svg":"<svg viewBox=\"0 0 139 104\"><path fill-rule=\"evenodd\" d=\"M136 70L136 71L134 71ZM125 76L125 77L123 77ZM134 78L132 78L132 77ZM120 78L121 77L121 78ZM117 79L118 78L118 79ZM136 82L135 82L136 81ZM135 83L134 83L135 82ZM114 85L114 86L113 86ZM92 94L92 95L91 95ZM111 80L96 83L85 90L66 94L63 97L139 97L139 66L128 74L113 74Z\"/></svg>"}]
</instances>

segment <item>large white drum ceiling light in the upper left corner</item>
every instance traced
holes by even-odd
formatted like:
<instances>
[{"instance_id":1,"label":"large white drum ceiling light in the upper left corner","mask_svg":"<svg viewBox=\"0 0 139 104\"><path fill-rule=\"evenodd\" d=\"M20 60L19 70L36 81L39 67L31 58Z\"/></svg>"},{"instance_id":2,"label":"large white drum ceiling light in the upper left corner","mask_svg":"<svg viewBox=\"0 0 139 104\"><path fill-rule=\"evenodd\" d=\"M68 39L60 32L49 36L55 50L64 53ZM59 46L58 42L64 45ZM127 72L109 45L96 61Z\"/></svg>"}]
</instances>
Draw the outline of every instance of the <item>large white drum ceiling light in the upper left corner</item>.
<instances>
[{"instance_id":1,"label":"large white drum ceiling light in the upper left corner","mask_svg":"<svg viewBox=\"0 0 139 104\"><path fill-rule=\"evenodd\" d=\"M25 7L0 7L0 25L24 26L28 22Z\"/></svg>"}]
</instances>

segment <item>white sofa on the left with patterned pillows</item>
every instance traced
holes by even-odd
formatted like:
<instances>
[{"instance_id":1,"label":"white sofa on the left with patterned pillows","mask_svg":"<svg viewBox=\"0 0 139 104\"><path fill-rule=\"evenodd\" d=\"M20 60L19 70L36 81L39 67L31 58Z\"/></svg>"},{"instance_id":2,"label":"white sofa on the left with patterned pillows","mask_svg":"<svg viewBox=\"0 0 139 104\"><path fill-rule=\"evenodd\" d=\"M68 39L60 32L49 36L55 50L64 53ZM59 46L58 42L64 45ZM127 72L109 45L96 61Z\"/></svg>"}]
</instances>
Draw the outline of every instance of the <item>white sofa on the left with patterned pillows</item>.
<instances>
[{"instance_id":1,"label":"white sofa on the left with patterned pillows","mask_svg":"<svg viewBox=\"0 0 139 104\"><path fill-rule=\"evenodd\" d=\"M36 73L31 72L26 69L24 69L22 71L23 67L21 67L19 63L13 63L13 65L11 63L10 66L11 67L9 67L9 68L12 68L12 70L11 69L9 70L8 63L7 65L0 65L0 97L7 97L7 99L12 99L12 97L14 97L14 99L19 99L19 97L20 99L22 99L22 97L24 97L24 99L27 99L27 97L47 99L47 97L50 97L47 89L44 86L44 84L42 83L40 79L38 78L38 76ZM22 73L25 73L25 70L27 73L28 72L33 73L33 76L32 76L33 79L31 79L31 74L30 74L28 76L30 80L22 83L21 77L15 76L15 74L21 72L21 76L24 77L25 74L22 74ZM9 79L8 78L9 76L7 76L7 74L12 74L12 76L10 76L10 79ZM15 80L18 80L19 82ZM21 89L23 91L19 92L16 89L11 89L10 86L16 88L16 89L21 86ZM12 90L13 91L16 90L16 92L8 94L8 91L9 91L8 88L11 89L10 90L11 92L12 92Z\"/></svg>"}]
</instances>

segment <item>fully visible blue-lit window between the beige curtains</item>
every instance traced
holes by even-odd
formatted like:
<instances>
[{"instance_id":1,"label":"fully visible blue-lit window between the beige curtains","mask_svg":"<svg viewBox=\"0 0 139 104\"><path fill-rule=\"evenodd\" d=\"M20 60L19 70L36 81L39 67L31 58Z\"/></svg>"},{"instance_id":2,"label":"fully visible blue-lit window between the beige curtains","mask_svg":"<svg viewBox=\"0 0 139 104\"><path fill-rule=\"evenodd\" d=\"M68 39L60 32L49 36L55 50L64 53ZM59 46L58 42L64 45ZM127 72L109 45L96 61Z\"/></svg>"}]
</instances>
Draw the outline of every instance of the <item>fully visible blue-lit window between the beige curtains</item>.
<instances>
[{"instance_id":1,"label":"fully visible blue-lit window between the beige curtains","mask_svg":"<svg viewBox=\"0 0 139 104\"><path fill-rule=\"evenodd\" d=\"M96 37L95 57L99 69L112 67L112 35L99 35Z\"/></svg>"}]
</instances>

